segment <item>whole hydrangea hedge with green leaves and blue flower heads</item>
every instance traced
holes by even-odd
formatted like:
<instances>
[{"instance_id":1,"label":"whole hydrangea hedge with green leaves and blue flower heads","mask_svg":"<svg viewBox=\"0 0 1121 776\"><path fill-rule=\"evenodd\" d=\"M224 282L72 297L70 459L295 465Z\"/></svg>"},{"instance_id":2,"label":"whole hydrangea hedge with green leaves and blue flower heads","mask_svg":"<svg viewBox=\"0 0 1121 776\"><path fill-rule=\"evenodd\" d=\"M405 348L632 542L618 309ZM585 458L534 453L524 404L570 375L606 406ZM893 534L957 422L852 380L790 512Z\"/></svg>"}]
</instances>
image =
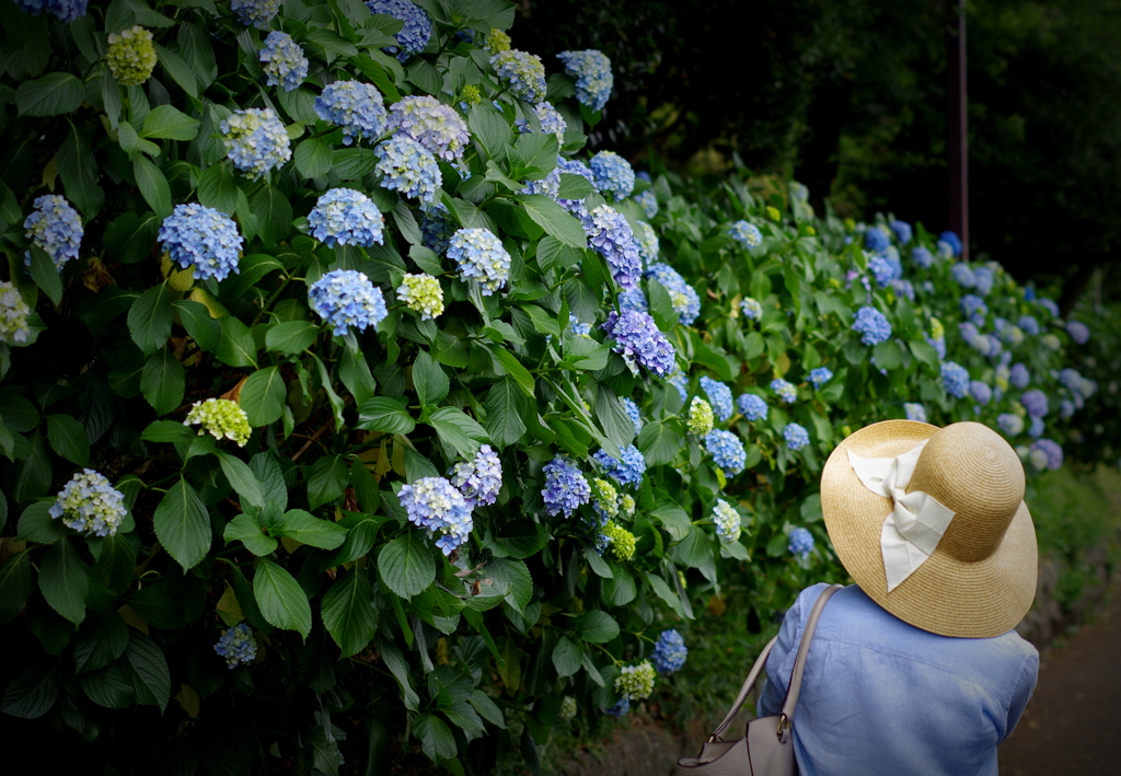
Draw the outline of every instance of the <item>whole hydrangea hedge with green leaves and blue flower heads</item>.
<instances>
[{"instance_id":1,"label":"whole hydrangea hedge with green leaves and blue flower heads","mask_svg":"<svg viewBox=\"0 0 1121 776\"><path fill-rule=\"evenodd\" d=\"M726 589L773 623L840 574L816 489L851 431L976 419L1062 464L1091 327L951 233L637 175L586 147L606 57L512 19L0 7L28 730L120 773L532 763L687 675Z\"/></svg>"}]
</instances>

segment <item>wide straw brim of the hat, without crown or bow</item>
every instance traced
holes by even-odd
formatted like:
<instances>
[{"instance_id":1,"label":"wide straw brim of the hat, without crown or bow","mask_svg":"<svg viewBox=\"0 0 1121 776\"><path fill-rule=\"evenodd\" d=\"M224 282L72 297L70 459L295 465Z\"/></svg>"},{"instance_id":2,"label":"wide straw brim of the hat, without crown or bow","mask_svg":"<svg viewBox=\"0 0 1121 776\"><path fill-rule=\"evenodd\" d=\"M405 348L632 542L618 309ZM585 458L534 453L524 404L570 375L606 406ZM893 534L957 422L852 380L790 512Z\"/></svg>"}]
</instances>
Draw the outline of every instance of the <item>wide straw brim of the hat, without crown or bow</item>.
<instances>
[{"instance_id":1,"label":"wide straw brim of the hat, without crown or bow","mask_svg":"<svg viewBox=\"0 0 1121 776\"><path fill-rule=\"evenodd\" d=\"M880 532L892 502L865 488L849 462L849 451L863 458L895 458L937 431L926 423L884 421L837 445L822 472L825 527L861 590L899 619L942 636L999 636L1016 627L1036 594L1038 549L1027 505L1020 502L989 557L966 562L935 549L889 593Z\"/></svg>"}]
</instances>

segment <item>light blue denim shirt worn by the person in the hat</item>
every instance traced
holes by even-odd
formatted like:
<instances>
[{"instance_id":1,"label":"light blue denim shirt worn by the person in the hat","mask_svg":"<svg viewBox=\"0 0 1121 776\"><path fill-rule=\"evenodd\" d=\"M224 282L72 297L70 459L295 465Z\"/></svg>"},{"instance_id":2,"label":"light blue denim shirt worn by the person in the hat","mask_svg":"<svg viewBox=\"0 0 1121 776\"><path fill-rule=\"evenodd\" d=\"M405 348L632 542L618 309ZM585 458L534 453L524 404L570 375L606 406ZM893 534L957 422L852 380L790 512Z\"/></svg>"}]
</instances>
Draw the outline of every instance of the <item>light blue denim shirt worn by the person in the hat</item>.
<instances>
[{"instance_id":1,"label":"light blue denim shirt worn by the person in the hat","mask_svg":"<svg viewBox=\"0 0 1121 776\"><path fill-rule=\"evenodd\" d=\"M758 714L781 711L809 610L798 595L767 659ZM817 622L794 718L800 776L997 776L997 745L1036 686L1039 655L1016 631L951 638L907 625L856 585Z\"/></svg>"}]
</instances>

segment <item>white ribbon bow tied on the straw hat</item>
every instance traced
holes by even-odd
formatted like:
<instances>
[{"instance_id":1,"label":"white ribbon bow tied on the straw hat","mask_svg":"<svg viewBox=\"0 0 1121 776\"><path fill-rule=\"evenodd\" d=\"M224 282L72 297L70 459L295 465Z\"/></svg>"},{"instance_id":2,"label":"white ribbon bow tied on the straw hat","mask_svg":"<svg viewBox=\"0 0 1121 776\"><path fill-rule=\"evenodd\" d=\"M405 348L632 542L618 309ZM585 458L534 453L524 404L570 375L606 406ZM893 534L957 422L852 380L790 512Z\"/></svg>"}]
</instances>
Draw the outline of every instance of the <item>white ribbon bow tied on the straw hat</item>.
<instances>
[{"instance_id":1,"label":"white ribbon bow tied on the straw hat","mask_svg":"<svg viewBox=\"0 0 1121 776\"><path fill-rule=\"evenodd\" d=\"M880 552L888 592L934 554L954 512L921 490L907 492L926 440L896 458L861 458L849 451L849 463L864 487L893 502L880 529Z\"/></svg>"}]
</instances>

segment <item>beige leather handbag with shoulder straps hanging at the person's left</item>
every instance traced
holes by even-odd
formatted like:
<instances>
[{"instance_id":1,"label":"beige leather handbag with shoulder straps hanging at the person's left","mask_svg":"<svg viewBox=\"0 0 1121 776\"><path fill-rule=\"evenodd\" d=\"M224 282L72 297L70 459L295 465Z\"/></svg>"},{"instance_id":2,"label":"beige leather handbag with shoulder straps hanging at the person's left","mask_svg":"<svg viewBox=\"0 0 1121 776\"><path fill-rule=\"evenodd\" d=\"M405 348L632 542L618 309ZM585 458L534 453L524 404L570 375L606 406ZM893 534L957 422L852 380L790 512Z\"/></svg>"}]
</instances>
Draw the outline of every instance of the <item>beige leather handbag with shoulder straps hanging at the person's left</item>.
<instances>
[{"instance_id":1,"label":"beige leather handbag with shoulder straps hanging at the person's left","mask_svg":"<svg viewBox=\"0 0 1121 776\"><path fill-rule=\"evenodd\" d=\"M751 720L748 722L743 738L734 741L725 741L721 738L735 718L735 712L743 705L751 687L754 686L756 680L763 669L763 664L767 663L771 647L778 640L778 636L776 636L767 643L759 659L751 666L751 673L748 674L748 680L740 687L740 694L735 696L731 711L701 747L701 755L683 757L677 760L676 776L795 776L798 773L798 764L794 759L794 737L790 735L790 728L794 726L794 709L798 705L798 692L802 690L802 673L806 667L809 643L814 638L814 629L822 616L822 609L825 608L825 602L830 600L830 597L842 586L834 584L822 591L809 612L806 630L802 635L802 644L798 645L798 656L794 660L794 673L787 685L788 690L786 700L782 702L781 713L777 717Z\"/></svg>"}]
</instances>

